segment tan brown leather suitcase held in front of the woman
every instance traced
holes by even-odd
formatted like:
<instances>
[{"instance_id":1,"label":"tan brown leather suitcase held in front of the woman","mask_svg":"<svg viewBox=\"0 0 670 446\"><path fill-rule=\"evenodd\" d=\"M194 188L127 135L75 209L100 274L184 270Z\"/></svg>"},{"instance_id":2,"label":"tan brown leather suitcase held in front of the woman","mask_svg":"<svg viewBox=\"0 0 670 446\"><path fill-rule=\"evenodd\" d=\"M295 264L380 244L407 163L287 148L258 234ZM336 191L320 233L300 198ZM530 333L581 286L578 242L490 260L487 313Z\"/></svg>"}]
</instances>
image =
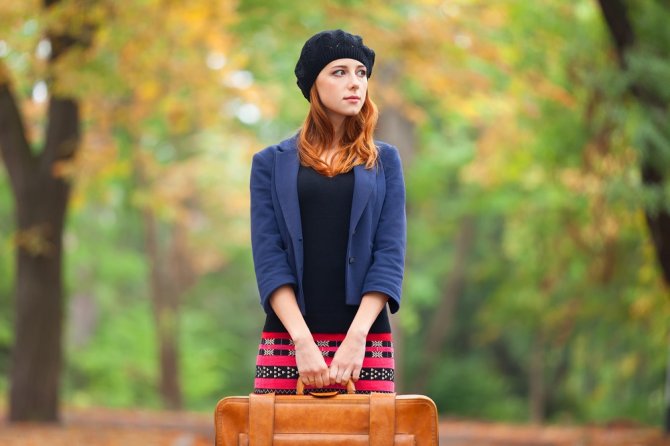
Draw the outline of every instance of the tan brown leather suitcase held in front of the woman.
<instances>
[{"instance_id":1,"label":"tan brown leather suitcase held in front of the woman","mask_svg":"<svg viewBox=\"0 0 670 446\"><path fill-rule=\"evenodd\" d=\"M298 393L223 398L214 413L216 445L438 444L437 409L426 396Z\"/></svg>"}]
</instances>

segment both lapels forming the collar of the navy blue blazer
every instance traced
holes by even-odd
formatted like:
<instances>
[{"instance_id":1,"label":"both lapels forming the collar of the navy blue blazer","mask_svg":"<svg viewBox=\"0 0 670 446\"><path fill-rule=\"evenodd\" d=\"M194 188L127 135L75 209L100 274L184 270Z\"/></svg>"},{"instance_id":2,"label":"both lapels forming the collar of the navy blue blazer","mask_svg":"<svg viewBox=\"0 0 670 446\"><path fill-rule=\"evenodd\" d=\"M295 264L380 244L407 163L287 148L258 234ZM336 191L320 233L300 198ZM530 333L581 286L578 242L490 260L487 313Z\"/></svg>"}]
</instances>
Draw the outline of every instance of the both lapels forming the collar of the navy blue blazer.
<instances>
[{"instance_id":1,"label":"both lapels forming the collar of the navy blue blazer","mask_svg":"<svg viewBox=\"0 0 670 446\"><path fill-rule=\"evenodd\" d=\"M275 190L284 220L293 240L302 237L300 225L300 205L298 203L298 149L297 136L286 139L279 144L275 158ZM378 165L381 166L381 163ZM382 169L366 169L363 165L354 167L354 194L351 202L351 219L349 221L349 237L363 214L370 193L375 186L376 172Z\"/></svg>"}]
</instances>

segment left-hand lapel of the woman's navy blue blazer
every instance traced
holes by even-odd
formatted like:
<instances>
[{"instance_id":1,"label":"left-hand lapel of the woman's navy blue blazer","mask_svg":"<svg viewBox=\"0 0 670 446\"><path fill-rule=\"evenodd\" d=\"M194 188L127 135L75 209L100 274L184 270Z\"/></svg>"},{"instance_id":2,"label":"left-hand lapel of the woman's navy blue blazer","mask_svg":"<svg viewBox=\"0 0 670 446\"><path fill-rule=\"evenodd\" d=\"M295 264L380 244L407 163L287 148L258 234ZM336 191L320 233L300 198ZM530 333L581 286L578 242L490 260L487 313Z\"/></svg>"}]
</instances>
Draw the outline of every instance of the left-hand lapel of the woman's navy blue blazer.
<instances>
[{"instance_id":1,"label":"left-hand lapel of the woman's navy blue blazer","mask_svg":"<svg viewBox=\"0 0 670 446\"><path fill-rule=\"evenodd\" d=\"M277 152L275 162L275 188L279 206L292 240L302 233L300 204L298 203L298 154L295 149Z\"/></svg>"}]
</instances>

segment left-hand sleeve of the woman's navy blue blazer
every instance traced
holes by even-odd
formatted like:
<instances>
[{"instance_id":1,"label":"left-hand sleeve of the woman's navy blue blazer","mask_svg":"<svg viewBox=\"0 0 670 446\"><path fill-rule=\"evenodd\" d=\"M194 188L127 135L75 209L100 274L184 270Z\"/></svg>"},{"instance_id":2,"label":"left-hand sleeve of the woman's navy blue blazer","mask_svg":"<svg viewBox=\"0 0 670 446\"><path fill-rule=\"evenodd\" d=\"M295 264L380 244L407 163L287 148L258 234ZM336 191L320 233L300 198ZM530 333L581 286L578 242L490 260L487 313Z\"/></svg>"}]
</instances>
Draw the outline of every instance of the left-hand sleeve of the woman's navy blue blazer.
<instances>
[{"instance_id":1,"label":"left-hand sleeve of the woman's navy blue blazer","mask_svg":"<svg viewBox=\"0 0 670 446\"><path fill-rule=\"evenodd\" d=\"M251 250L260 302L265 312L271 310L270 296L282 285L298 283L291 269L287 247L279 232L272 199L274 153L263 150L254 155L251 164Z\"/></svg>"}]
</instances>

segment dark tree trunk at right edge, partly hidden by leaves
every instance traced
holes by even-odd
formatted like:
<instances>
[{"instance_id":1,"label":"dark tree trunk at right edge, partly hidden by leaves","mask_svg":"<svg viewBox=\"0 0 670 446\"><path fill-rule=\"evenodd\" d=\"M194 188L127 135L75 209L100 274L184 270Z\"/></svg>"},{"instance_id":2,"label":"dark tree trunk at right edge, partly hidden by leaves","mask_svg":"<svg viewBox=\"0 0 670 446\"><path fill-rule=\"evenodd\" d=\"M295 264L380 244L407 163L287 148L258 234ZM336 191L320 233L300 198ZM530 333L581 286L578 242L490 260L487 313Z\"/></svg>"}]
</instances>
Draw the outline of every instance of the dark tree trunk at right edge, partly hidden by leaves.
<instances>
[{"instance_id":1,"label":"dark tree trunk at right edge, partly hidden by leaves","mask_svg":"<svg viewBox=\"0 0 670 446\"><path fill-rule=\"evenodd\" d=\"M628 15L626 4L622 0L599 0L598 3L612 36L619 66L622 71L626 72L628 71L626 56L636 45L635 30ZM668 104L660 99L660 95L650 90L639 78L634 79L629 84L629 91L649 111L649 116L656 121L659 128L667 127ZM645 155L641 157L640 161L642 182L649 188L663 191L665 172L657 164L659 157L655 155L663 153L665 149L656 147L652 142L646 142L643 148L645 149ZM654 243L656 257L663 273L663 279L667 285L670 285L670 213L668 213L665 203L663 203L663 206L658 206L658 209L646 209L645 216ZM670 382L670 365L666 370L666 380ZM670 391L670 389L667 391ZM670 395L666 395L665 412L664 429L666 433L670 433Z\"/></svg>"}]
</instances>

